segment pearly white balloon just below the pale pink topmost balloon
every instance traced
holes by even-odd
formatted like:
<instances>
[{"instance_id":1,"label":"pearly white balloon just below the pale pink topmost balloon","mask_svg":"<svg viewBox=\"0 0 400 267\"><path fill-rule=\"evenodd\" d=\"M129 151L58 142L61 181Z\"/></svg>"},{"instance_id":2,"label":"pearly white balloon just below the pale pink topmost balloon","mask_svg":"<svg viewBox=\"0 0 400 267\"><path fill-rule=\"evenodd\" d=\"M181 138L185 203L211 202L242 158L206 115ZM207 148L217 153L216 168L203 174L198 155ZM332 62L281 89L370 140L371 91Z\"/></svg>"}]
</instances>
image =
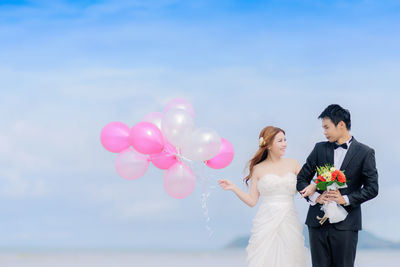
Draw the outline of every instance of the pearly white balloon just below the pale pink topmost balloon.
<instances>
[{"instance_id":1,"label":"pearly white balloon just below the pale pink topmost balloon","mask_svg":"<svg viewBox=\"0 0 400 267\"><path fill-rule=\"evenodd\" d=\"M181 148L184 140L193 131L192 115L184 109L170 109L161 120L161 131L164 137L174 146Z\"/></svg>"}]
</instances>

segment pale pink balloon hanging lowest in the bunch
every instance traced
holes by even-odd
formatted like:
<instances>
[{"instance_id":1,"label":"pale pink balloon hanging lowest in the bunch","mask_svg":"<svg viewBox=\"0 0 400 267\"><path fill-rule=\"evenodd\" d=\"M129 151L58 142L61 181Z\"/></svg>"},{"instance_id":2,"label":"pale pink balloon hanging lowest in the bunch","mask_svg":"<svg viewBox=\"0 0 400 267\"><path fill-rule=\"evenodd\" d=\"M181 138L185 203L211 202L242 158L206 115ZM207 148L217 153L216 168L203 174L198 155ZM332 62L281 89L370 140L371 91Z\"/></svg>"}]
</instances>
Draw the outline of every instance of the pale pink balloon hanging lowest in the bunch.
<instances>
[{"instance_id":1,"label":"pale pink balloon hanging lowest in the bunch","mask_svg":"<svg viewBox=\"0 0 400 267\"><path fill-rule=\"evenodd\" d=\"M192 170L182 162L172 165L164 175L164 188L173 198L188 197L194 190L196 181Z\"/></svg>"}]
</instances>

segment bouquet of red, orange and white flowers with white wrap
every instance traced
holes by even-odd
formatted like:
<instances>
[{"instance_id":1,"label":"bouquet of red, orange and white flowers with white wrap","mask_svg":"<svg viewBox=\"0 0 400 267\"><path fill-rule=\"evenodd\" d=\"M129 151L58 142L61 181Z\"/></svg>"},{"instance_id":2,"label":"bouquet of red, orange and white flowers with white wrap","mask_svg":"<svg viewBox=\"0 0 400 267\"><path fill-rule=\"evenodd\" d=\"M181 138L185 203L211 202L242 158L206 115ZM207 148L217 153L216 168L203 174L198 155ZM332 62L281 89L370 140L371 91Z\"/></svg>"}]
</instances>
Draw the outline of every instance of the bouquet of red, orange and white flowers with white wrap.
<instances>
[{"instance_id":1,"label":"bouquet of red, orange and white flowers with white wrap","mask_svg":"<svg viewBox=\"0 0 400 267\"><path fill-rule=\"evenodd\" d=\"M317 167L318 176L314 180L317 184L317 189L322 191L337 190L340 188L347 187L347 179L344 175L344 171L338 170L333 166L325 165ZM319 223L322 225L329 219L330 223L341 222L346 219L347 211L335 201L329 201L322 205L321 210L325 212L324 217L317 216Z\"/></svg>"}]
</instances>

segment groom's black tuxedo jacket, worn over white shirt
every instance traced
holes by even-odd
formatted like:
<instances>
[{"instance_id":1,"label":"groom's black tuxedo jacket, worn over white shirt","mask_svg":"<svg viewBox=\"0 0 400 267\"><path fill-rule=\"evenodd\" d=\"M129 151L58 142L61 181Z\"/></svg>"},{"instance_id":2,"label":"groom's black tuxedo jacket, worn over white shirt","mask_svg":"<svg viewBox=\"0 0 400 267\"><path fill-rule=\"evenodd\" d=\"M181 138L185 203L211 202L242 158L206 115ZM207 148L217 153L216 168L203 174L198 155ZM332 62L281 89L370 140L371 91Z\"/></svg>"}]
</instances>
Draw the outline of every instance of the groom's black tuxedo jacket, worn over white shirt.
<instances>
[{"instance_id":1,"label":"groom's black tuxedo jacket, worn over white shirt","mask_svg":"<svg viewBox=\"0 0 400 267\"><path fill-rule=\"evenodd\" d=\"M301 191L310 184L317 171L317 166L324 166L325 164L333 166L333 155L333 143L317 143L297 175L297 190ZM344 221L333 225L338 230L358 231L362 229L361 203L378 195L378 172L374 150L353 138L340 170L344 171L348 180L347 188L339 190L342 195L349 197L350 205L343 205L349 214ZM318 190L318 192L322 194L322 191ZM321 204L310 205L306 224L311 227L320 227L319 220L316 217L323 217L323 215ZM329 223L329 220L325 223Z\"/></svg>"}]
</instances>

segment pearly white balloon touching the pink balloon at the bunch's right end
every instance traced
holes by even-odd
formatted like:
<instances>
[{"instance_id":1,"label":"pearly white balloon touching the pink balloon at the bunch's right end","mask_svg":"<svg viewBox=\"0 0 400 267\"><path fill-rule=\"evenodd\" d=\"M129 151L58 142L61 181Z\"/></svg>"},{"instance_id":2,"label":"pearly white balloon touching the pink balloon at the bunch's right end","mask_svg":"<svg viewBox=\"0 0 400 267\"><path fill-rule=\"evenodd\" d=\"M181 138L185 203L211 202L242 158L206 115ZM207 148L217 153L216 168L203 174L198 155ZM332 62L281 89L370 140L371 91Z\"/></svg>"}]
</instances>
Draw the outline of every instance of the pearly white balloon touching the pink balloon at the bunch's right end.
<instances>
[{"instance_id":1,"label":"pearly white balloon touching the pink balloon at the bunch's right end","mask_svg":"<svg viewBox=\"0 0 400 267\"><path fill-rule=\"evenodd\" d=\"M215 157L221 148L221 137L210 128L198 128L185 139L182 155L191 160L206 161Z\"/></svg>"}]
</instances>

